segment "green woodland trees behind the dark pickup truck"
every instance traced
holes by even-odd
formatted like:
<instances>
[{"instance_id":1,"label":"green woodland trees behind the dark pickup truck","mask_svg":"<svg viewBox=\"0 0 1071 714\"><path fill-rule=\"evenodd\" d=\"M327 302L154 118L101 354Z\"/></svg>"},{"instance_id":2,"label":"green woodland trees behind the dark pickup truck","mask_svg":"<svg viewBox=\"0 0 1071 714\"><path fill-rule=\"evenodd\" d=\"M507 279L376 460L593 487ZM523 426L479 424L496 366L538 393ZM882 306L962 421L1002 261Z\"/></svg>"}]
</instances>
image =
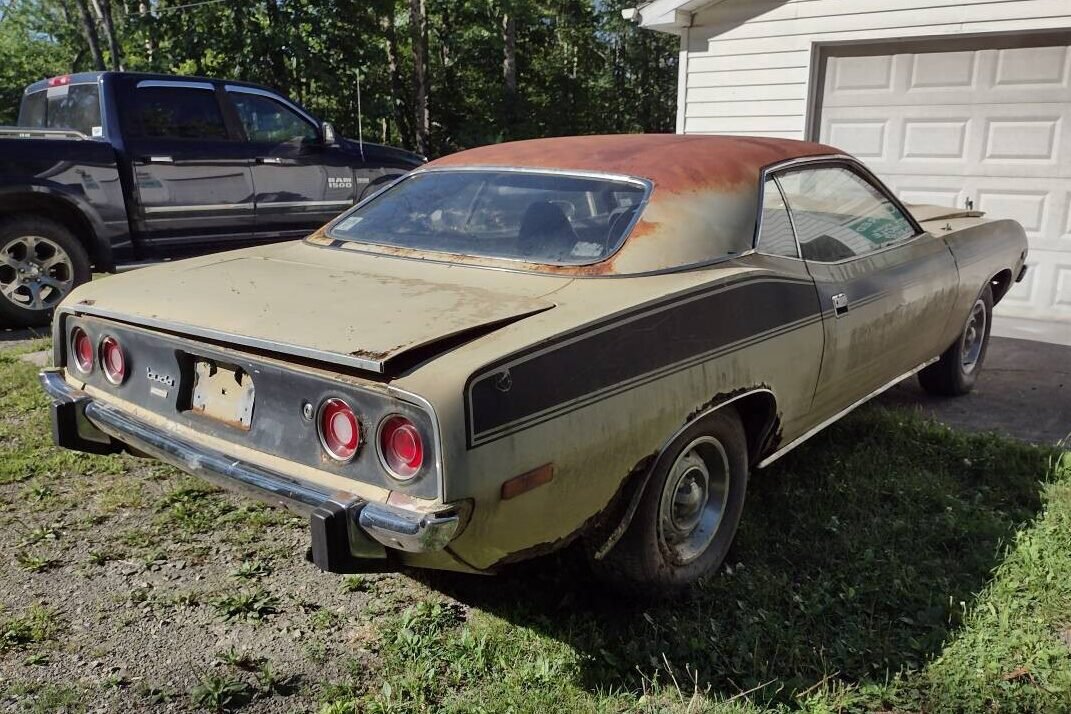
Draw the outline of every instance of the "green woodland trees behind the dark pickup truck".
<instances>
[{"instance_id":1,"label":"green woodland trees behind the dark pickup truck","mask_svg":"<svg viewBox=\"0 0 1071 714\"><path fill-rule=\"evenodd\" d=\"M0 124L14 121L29 82L94 69L82 2L0 0ZM268 85L348 136L359 128L360 79L364 137L417 148L423 85L426 149L440 155L537 136L672 131L676 43L622 19L621 9L632 4L89 0L86 6L109 67L121 62L125 70ZM413 32L421 25L424 33ZM414 52L422 36L424 51ZM422 61L424 82L418 81Z\"/></svg>"}]
</instances>

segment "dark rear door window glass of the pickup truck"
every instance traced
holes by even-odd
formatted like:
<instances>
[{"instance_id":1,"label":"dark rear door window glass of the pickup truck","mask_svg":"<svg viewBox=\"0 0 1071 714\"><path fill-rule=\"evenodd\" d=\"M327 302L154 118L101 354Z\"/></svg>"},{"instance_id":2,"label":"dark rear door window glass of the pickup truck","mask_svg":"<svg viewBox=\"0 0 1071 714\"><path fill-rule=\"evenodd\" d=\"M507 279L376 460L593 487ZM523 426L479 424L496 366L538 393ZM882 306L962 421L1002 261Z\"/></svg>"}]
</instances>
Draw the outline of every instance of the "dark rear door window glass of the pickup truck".
<instances>
[{"instance_id":1,"label":"dark rear door window glass of the pickup truck","mask_svg":"<svg viewBox=\"0 0 1071 714\"><path fill-rule=\"evenodd\" d=\"M227 126L210 89L138 87L135 113L144 137L227 139Z\"/></svg>"}]
</instances>

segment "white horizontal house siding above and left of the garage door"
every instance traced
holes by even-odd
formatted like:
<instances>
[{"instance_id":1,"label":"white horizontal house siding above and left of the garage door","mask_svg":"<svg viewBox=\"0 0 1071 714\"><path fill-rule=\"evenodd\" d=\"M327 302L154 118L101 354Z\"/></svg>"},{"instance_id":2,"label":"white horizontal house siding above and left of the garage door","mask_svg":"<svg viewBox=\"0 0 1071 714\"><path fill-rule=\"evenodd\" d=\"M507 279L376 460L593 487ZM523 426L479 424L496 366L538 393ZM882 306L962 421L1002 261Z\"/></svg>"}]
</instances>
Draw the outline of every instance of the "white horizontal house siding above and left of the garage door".
<instances>
[{"instance_id":1,"label":"white horizontal house siding above and left of the garage door","mask_svg":"<svg viewBox=\"0 0 1071 714\"><path fill-rule=\"evenodd\" d=\"M688 32L680 133L803 138L814 43L1071 28L1071 0L724 0Z\"/></svg>"}]
</instances>

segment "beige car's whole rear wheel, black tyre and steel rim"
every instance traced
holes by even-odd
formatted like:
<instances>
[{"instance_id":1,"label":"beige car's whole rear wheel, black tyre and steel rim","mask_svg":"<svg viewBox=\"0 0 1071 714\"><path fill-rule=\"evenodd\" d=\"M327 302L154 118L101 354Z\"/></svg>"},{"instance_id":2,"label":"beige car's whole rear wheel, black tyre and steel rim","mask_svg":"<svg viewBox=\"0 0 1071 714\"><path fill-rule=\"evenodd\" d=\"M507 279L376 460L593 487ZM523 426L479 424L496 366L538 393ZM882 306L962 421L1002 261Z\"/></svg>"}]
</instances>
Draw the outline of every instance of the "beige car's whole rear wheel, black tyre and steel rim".
<instances>
[{"instance_id":1,"label":"beige car's whole rear wheel, black tyre and steel rim","mask_svg":"<svg viewBox=\"0 0 1071 714\"><path fill-rule=\"evenodd\" d=\"M698 420L659 459L629 530L595 569L643 596L694 583L725 559L746 488L746 438L736 411Z\"/></svg>"}]
</instances>

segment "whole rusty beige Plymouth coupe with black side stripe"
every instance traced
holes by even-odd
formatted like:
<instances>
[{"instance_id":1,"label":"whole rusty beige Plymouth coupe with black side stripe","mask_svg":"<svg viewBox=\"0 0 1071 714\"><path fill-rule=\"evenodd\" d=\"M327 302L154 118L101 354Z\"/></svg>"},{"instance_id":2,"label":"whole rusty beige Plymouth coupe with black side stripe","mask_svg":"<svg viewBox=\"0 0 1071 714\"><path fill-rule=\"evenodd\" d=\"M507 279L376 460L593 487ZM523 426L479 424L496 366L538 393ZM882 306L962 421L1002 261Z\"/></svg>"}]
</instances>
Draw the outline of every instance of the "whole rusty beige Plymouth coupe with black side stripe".
<instances>
[{"instance_id":1,"label":"whole rusty beige Plymouth coupe with black side stripe","mask_svg":"<svg viewBox=\"0 0 1071 714\"><path fill-rule=\"evenodd\" d=\"M1025 257L827 146L521 141L303 241L84 285L41 379L57 443L305 514L323 569L576 543L669 592L721 563L751 471L910 375L968 392Z\"/></svg>"}]
</instances>

